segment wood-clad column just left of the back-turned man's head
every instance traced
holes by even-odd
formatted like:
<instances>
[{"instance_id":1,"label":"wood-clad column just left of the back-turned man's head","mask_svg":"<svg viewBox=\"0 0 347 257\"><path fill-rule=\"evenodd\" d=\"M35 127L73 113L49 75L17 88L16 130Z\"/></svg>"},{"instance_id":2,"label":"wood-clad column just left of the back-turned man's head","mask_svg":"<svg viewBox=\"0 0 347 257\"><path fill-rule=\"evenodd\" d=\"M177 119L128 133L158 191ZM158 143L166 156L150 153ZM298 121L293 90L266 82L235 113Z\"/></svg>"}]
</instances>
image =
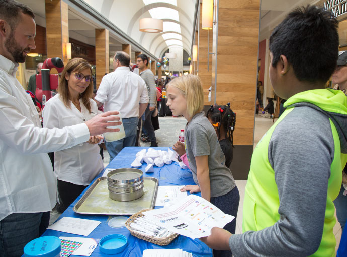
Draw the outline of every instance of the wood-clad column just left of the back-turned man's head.
<instances>
[{"instance_id":1,"label":"wood-clad column just left of the back-turned man's head","mask_svg":"<svg viewBox=\"0 0 347 257\"><path fill-rule=\"evenodd\" d=\"M110 71L109 31L107 29L95 29L95 58L97 88L99 88L105 73Z\"/></svg>"}]
</instances>

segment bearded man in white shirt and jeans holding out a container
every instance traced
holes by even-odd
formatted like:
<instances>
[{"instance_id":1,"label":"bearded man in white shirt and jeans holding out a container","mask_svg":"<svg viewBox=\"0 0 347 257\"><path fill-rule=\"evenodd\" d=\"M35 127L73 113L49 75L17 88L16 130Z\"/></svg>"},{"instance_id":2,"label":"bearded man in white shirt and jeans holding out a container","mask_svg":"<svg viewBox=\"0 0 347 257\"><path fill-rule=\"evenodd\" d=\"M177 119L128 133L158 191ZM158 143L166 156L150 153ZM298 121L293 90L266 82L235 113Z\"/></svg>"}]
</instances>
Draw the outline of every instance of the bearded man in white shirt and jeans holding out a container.
<instances>
[{"instance_id":1,"label":"bearded man in white shirt and jeans holding out a container","mask_svg":"<svg viewBox=\"0 0 347 257\"><path fill-rule=\"evenodd\" d=\"M16 79L18 62L35 49L35 16L26 5L0 0L0 256L21 256L39 236L43 212L52 210L57 181L47 152L118 130L118 118L103 113L88 122L42 129L30 96ZM48 224L47 224L48 225ZM47 227L47 226L46 226Z\"/></svg>"}]
</instances>

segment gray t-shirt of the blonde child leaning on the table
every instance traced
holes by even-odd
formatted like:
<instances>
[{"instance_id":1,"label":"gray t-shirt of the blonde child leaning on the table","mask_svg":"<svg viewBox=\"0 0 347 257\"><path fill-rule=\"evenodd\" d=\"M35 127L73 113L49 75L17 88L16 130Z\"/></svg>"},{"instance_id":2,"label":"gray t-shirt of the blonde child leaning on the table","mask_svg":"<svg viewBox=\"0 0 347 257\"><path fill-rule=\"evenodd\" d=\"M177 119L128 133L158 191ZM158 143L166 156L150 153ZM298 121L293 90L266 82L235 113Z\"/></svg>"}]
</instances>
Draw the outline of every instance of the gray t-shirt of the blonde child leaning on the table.
<instances>
[{"instance_id":1,"label":"gray t-shirt of the blonde child leaning on the table","mask_svg":"<svg viewBox=\"0 0 347 257\"><path fill-rule=\"evenodd\" d=\"M195 114L187 124L185 140L186 154L194 182L199 185L195 157L208 155L211 197L223 196L230 192L236 185L235 180L231 171L225 166L225 156L220 148L217 134L204 112Z\"/></svg>"}]
</instances>

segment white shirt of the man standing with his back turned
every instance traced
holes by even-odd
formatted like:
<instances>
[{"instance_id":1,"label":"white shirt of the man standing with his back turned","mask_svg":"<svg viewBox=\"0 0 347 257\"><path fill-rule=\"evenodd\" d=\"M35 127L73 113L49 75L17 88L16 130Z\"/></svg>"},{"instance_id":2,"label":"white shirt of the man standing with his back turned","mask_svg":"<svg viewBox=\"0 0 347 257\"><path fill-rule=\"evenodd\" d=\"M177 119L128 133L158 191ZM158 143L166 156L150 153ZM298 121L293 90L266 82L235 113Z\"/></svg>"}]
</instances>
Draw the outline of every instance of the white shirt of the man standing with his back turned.
<instances>
[{"instance_id":1,"label":"white shirt of the man standing with his back turned","mask_svg":"<svg viewBox=\"0 0 347 257\"><path fill-rule=\"evenodd\" d=\"M104 111L119 111L122 118L139 116L139 103L148 103L148 91L141 77L120 66L105 75L95 100L104 103Z\"/></svg>"}]
</instances>

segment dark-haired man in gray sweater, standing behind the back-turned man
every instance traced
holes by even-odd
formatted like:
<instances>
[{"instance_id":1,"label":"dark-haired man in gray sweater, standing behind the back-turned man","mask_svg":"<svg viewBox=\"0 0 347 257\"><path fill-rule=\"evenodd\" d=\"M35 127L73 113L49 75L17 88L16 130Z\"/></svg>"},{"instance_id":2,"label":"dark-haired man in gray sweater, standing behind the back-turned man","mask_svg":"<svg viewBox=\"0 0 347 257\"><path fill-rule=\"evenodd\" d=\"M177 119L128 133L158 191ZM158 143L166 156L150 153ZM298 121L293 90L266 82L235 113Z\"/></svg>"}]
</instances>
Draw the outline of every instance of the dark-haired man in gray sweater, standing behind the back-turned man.
<instances>
[{"instance_id":1,"label":"dark-haired man in gray sweater, standing behind the back-turned man","mask_svg":"<svg viewBox=\"0 0 347 257\"><path fill-rule=\"evenodd\" d=\"M136 64L138 68L140 69L140 76L145 81L147 90L148 90L148 96L149 96L149 104L147 106L147 109L145 111L145 121L143 123L143 129L146 131L147 136L150 140L150 146L155 147L158 146L155 138L155 132L154 127L152 125L152 113L155 109L156 105L156 86L155 86L155 80L154 75L151 70L148 69L148 57L145 54L140 54L137 56Z\"/></svg>"}]
</instances>

